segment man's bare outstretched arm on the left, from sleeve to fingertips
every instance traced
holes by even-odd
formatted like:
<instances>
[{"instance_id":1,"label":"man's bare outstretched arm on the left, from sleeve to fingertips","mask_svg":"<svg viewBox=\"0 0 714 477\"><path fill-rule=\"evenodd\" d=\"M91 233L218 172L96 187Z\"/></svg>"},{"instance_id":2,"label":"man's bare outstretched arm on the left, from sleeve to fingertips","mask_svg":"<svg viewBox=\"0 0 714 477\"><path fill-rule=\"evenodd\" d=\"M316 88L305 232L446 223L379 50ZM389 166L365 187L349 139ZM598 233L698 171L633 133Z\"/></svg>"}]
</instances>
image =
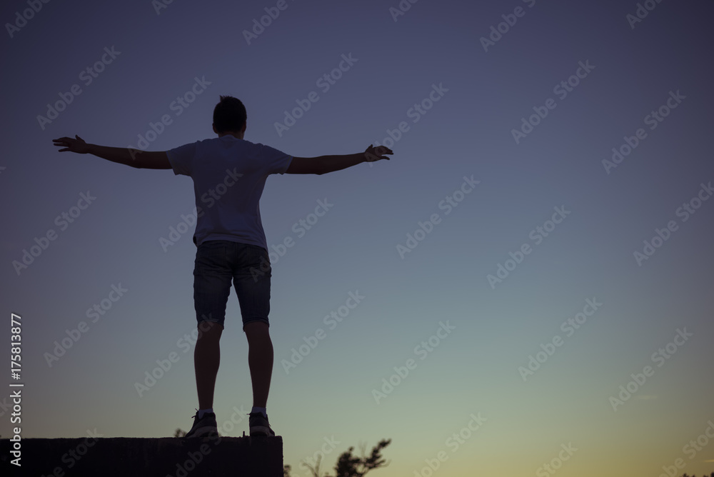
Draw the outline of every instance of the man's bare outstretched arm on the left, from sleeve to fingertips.
<instances>
[{"instance_id":1,"label":"man's bare outstretched arm on the left, from sleeve to fingertips","mask_svg":"<svg viewBox=\"0 0 714 477\"><path fill-rule=\"evenodd\" d=\"M94 154L94 156L101 157L101 159L126 164L136 169L172 169L166 151L149 152L124 147L99 146L97 144L86 144L81 137L75 137L76 139L69 137L53 139L54 145L64 147L64 149L59 149L59 152L70 151L77 154Z\"/></svg>"}]
</instances>

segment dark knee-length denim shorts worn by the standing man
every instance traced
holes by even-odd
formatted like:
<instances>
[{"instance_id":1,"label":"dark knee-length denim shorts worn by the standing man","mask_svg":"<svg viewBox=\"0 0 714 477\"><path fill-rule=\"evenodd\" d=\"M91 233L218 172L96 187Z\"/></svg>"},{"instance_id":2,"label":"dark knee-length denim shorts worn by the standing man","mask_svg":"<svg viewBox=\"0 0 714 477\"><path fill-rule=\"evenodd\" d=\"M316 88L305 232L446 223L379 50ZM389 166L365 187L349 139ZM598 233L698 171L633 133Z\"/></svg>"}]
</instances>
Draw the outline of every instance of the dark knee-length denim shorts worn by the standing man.
<instances>
[{"instance_id":1,"label":"dark knee-length denim shorts worn by the standing man","mask_svg":"<svg viewBox=\"0 0 714 477\"><path fill-rule=\"evenodd\" d=\"M193 306L196 321L226 321L226 303L231 281L241 305L243 331L246 323L268 323L271 266L268 251L249 243L209 240L196 250L193 268Z\"/></svg>"}]
</instances>

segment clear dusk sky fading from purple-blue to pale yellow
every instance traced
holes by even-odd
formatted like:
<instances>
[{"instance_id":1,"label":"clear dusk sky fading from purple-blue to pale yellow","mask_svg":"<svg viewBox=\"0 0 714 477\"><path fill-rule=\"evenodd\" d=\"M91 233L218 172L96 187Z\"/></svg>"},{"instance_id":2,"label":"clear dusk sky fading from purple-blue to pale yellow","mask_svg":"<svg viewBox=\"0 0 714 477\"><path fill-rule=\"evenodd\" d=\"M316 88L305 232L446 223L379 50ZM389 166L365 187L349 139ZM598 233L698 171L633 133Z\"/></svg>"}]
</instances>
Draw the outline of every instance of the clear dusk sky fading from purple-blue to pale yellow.
<instances>
[{"instance_id":1,"label":"clear dusk sky fading from purple-blue to pale yellow","mask_svg":"<svg viewBox=\"0 0 714 477\"><path fill-rule=\"evenodd\" d=\"M448 458L435 476L551 475L543 465L554 460L558 476L658 476L678 458L679 474L714 470L705 435L714 434L714 200L695 200L687 220L677 212L714 182L712 4L663 1L634 28L635 1L423 0L395 21L398 4L288 0L250 44L243 31L276 2L174 1L158 13L149 0L50 2L12 37L6 31L0 310L22 317L24 437L95 428L159 437L191 427L198 403L184 335L196 325L193 227L166 251L159 241L191 213L191 179L58 154L51 140L79 134L136 147L168 114L149 150L171 149L215 137L213 106L231 94L246 104L246 140L296 156L353 154L382 144L402 121L409 128L390 161L271 176L263 192L268 245L294 241L273 256L268 399L293 475L308 475L300 461L326 439L338 445L325 447L323 471L349 446L381 438L392 439L383 452L391 464L375 476L428 475L425 459L440 452ZM523 15L509 17L518 6ZM0 19L26 8L4 2ZM501 25L506 33L484 51L481 38L503 15L516 24ZM86 84L81 72L112 47L119 54ZM318 79L350 54L357 61L323 91ZM565 97L554 91L580 62L594 68L579 70L585 77L570 79L577 86ZM172 102L196 78L210 84L176 115ZM43 129L37 116L74 84L81 93ZM448 91L415 115L435 84ZM318 101L278 135L275 123L311 91ZM680 95L676 108L650 129L645 116L670 92ZM517 143L512 131L534 107L548 115ZM640 128L645 139L608 174L603 160ZM440 204L465 176L480 182L457 192L463 200L446 214ZM88 191L96 199L71 224L56 222ZM333 207L304 234L293 228L318 200ZM569 214L553 229L546 222L556 207ZM402 258L398 245L433 214L438 224ZM676 230L638 263L635 251L670 221ZM50 229L54 241L17 273L13 261ZM506 263L526 243L531 253ZM499 264L511 271L492 287L487 276ZM127 291L107 301L119 285ZM365 298L328 326L323 317L351 292ZM86 311L102 300L111 308L92 322ZM566 332L561 324L586 300L602 305ZM82 321L89 329L49 366L46 353ZM441 322L453 330L425 351L421 342ZM326 336L286 372L281 362L318 328ZM691 336L677 338L667 359L653 354L666 353L678 330ZM546 346L553 338L560 346ZM540 353L544 362L524 380L519 367L541 344L554 352ZM250 411L247 353L231 292L219 425L233 408ZM178 361L139 396L135 383L169 356ZM377 402L373 389L409 359L416 367L393 377L397 386ZM645 383L630 383L634 392L613 409L610 396L645 366L653 371ZM9 389L0 394L3 437ZM223 435L247 433L241 417ZM456 446L455 433L468 438ZM698 437L707 441L700 451L686 447ZM577 449L567 461L563 446Z\"/></svg>"}]
</instances>

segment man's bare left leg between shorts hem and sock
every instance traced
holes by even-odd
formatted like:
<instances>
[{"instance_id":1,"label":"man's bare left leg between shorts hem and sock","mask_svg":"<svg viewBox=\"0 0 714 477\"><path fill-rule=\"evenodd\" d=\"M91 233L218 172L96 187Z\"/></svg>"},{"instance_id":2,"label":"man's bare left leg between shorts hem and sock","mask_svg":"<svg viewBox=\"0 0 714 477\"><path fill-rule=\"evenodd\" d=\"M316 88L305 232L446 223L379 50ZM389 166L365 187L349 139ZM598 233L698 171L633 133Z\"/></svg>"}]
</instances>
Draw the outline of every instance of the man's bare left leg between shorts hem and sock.
<instances>
[{"instance_id":1,"label":"man's bare left leg between shorts hem and sock","mask_svg":"<svg viewBox=\"0 0 714 477\"><path fill-rule=\"evenodd\" d=\"M198 408L213 408L213 389L216 387L218 365L221 363L219 341L223 325L211 321L198 324L198 339L193 350L193 367L196 370Z\"/></svg>"}]
</instances>

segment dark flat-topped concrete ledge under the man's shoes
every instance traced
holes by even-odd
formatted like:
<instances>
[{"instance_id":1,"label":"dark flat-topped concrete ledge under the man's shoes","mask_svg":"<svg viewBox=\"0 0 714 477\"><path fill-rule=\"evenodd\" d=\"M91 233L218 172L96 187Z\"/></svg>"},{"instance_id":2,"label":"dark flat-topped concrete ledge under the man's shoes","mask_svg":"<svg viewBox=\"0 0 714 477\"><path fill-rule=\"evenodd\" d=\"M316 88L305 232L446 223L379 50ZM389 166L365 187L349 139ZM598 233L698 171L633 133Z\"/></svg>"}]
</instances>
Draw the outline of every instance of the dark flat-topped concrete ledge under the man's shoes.
<instances>
[{"instance_id":1,"label":"dark flat-topped concrete ledge under the man's shoes","mask_svg":"<svg viewBox=\"0 0 714 477\"><path fill-rule=\"evenodd\" d=\"M21 467L0 439L3 476L283 477L283 438L24 438Z\"/></svg>"}]
</instances>

